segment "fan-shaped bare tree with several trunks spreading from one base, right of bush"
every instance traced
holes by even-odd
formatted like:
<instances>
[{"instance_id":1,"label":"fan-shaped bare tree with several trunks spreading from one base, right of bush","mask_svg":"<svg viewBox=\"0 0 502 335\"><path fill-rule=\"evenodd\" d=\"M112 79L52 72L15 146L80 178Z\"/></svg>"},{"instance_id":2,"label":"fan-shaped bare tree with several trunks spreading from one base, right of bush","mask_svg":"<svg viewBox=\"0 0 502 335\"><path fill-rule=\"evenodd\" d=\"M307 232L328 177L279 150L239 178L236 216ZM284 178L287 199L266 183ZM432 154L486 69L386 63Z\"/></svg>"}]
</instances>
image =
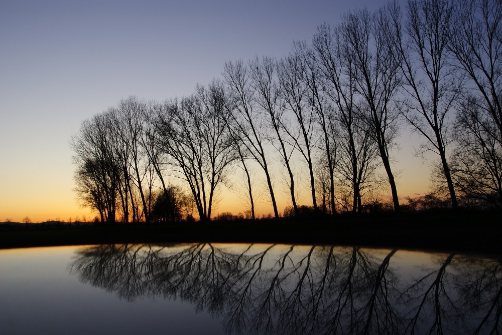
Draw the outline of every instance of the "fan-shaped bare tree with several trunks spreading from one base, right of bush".
<instances>
[{"instance_id":1,"label":"fan-shaped bare tree with several trunks spreading from one base, right of bush","mask_svg":"<svg viewBox=\"0 0 502 335\"><path fill-rule=\"evenodd\" d=\"M203 222L210 221L215 191L238 159L227 126L230 111L223 84L213 81L190 97L166 102L157 115L159 145L176 176L188 183Z\"/></svg>"}]
</instances>

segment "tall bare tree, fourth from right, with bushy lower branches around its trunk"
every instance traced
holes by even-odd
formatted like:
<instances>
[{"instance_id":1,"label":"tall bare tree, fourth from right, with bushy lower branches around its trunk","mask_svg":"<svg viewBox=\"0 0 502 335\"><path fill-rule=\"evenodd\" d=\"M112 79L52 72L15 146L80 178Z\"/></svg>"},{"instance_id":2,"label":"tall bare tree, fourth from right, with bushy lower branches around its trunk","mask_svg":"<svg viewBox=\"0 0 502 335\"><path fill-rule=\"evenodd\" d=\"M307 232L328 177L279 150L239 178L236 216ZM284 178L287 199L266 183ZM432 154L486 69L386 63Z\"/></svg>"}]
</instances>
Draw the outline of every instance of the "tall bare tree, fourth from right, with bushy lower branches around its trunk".
<instances>
[{"instance_id":1,"label":"tall bare tree, fourth from right, with bushy lower branches around its trunk","mask_svg":"<svg viewBox=\"0 0 502 335\"><path fill-rule=\"evenodd\" d=\"M355 55L348 52L349 42L341 27L332 29L328 24L318 27L314 36L316 61L322 74L322 87L331 107L327 110L329 137L336 143L337 156L333 160L339 183L351 193L350 207L362 209L362 189L372 181L379 167L376 162L378 146L370 136L373 127L363 122L356 113ZM343 196L339 201L345 202Z\"/></svg>"}]
</instances>

